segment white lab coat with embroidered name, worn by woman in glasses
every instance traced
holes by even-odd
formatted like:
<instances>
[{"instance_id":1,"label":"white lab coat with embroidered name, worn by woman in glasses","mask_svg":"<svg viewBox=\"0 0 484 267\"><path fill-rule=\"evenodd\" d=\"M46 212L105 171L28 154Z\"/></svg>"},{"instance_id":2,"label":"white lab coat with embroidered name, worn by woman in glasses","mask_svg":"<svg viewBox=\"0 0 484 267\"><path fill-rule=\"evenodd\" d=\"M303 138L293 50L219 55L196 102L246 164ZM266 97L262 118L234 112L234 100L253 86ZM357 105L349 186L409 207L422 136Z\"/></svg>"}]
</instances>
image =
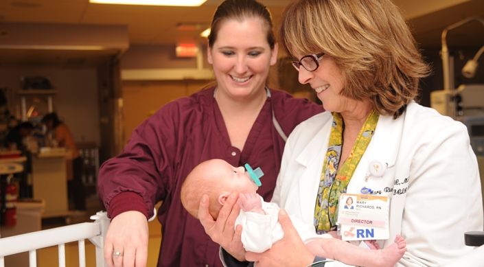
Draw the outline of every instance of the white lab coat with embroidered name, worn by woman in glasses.
<instances>
[{"instance_id":1,"label":"white lab coat with embroidered name, worn by woman in glasses","mask_svg":"<svg viewBox=\"0 0 484 267\"><path fill-rule=\"evenodd\" d=\"M329 112L303 121L284 150L272 201L306 223L313 222L331 124ZM374 160L389 168L365 183ZM360 194L365 186L391 198L390 238L380 245L389 246L397 234L406 238L397 266L439 266L473 249L465 246L464 232L483 230L479 169L467 129L432 108L412 102L398 119L380 116L347 193Z\"/></svg>"}]
</instances>

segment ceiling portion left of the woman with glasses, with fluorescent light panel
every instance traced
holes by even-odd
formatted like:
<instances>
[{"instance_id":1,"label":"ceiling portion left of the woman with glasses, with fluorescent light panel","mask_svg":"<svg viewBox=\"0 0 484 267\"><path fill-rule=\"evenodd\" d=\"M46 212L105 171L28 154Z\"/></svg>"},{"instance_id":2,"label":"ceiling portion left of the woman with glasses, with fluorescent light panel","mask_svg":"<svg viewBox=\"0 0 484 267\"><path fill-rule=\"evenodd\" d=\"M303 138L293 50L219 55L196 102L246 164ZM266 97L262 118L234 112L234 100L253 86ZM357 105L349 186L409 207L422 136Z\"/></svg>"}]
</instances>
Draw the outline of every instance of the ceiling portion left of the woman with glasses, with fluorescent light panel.
<instances>
[{"instance_id":1,"label":"ceiling portion left of the woman with glasses, with fluorescent light panel","mask_svg":"<svg viewBox=\"0 0 484 267\"><path fill-rule=\"evenodd\" d=\"M221 1L209 0L200 7L147 5L104 5L88 0L1 0L0 23L68 23L89 25L128 25L134 45L173 44L198 38L209 27L211 16ZM264 1L275 21L287 0ZM187 25L179 30L179 25Z\"/></svg>"}]
</instances>

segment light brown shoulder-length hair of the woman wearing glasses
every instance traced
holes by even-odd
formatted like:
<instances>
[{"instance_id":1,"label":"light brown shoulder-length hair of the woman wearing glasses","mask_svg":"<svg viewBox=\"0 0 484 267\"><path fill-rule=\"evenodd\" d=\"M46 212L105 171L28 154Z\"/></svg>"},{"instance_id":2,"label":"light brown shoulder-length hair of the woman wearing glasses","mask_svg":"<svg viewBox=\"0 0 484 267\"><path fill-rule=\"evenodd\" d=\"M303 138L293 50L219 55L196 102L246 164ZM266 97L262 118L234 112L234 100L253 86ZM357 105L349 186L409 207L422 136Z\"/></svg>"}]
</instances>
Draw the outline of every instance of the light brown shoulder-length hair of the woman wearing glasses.
<instances>
[{"instance_id":1,"label":"light brown shoulder-length hair of the woman wearing glasses","mask_svg":"<svg viewBox=\"0 0 484 267\"><path fill-rule=\"evenodd\" d=\"M325 53L343 73L341 95L400 116L428 75L402 14L390 0L299 0L284 11L280 38L292 55Z\"/></svg>"}]
</instances>

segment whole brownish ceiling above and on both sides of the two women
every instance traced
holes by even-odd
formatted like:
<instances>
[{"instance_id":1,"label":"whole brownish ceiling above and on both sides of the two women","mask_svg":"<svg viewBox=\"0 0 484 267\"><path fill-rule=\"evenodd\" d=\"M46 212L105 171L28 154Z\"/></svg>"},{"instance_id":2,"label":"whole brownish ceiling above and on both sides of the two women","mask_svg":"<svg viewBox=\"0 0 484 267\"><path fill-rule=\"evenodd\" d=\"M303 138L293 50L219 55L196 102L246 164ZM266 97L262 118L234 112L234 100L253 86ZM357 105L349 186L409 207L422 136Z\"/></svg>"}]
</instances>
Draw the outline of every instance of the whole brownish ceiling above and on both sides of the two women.
<instances>
[{"instance_id":1,"label":"whole brownish ceiling above and on both sides of the two women","mask_svg":"<svg viewBox=\"0 0 484 267\"><path fill-rule=\"evenodd\" d=\"M413 28L421 47L440 47L440 34L468 16L484 18L484 0L393 0ZM0 0L2 23L60 23L71 25L127 25L130 45L174 45L200 40L220 0L208 0L196 8L143 5L103 5L89 0ZM275 25L290 0L261 0L273 14ZM184 25L185 27L180 27ZM181 30L184 28L185 30ZM8 33L5 33L8 34ZM470 23L449 34L449 44L480 47L484 25ZM10 51L0 49L5 60ZM8 54L8 55L7 55ZM1 61L1 60L0 60Z\"/></svg>"}]
</instances>

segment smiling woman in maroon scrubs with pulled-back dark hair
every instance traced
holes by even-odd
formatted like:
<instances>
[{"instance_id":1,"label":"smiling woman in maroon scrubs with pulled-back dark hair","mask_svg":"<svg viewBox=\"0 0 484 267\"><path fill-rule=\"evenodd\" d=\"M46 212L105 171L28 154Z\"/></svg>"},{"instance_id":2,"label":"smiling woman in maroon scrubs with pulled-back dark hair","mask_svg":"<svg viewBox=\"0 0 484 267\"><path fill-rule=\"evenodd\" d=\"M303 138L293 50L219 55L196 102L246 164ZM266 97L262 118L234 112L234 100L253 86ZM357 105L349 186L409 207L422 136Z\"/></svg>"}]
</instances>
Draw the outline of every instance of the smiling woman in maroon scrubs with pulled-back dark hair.
<instances>
[{"instance_id":1,"label":"smiling woman in maroon scrubs with pulled-back dark hair","mask_svg":"<svg viewBox=\"0 0 484 267\"><path fill-rule=\"evenodd\" d=\"M111 218L104 247L109 265L146 265L147 219L161 200L158 266L222 266L219 245L180 200L185 176L202 161L261 167L258 192L270 200L286 136L323 111L266 87L277 61L272 27L270 13L257 1L220 4L207 49L216 85L163 106L132 132L121 154L102 165L100 198Z\"/></svg>"}]
</instances>

